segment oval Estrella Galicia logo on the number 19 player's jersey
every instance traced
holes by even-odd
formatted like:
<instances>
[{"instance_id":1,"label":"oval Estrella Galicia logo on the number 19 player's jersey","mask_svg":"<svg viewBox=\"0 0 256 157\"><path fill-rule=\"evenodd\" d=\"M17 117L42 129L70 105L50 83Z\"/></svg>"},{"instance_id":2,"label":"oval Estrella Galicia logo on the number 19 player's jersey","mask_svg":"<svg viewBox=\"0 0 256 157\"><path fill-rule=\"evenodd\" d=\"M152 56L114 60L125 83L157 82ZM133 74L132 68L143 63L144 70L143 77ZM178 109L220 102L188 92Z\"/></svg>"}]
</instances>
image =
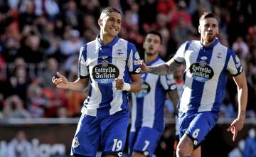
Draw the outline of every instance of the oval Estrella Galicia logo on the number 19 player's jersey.
<instances>
[{"instance_id":1,"label":"oval Estrella Galicia logo on the number 19 player's jersey","mask_svg":"<svg viewBox=\"0 0 256 157\"><path fill-rule=\"evenodd\" d=\"M114 81L119 75L118 67L108 63L107 60L104 60L102 63L95 65L92 68L92 77L96 82L101 84L107 84Z\"/></svg>"}]
</instances>

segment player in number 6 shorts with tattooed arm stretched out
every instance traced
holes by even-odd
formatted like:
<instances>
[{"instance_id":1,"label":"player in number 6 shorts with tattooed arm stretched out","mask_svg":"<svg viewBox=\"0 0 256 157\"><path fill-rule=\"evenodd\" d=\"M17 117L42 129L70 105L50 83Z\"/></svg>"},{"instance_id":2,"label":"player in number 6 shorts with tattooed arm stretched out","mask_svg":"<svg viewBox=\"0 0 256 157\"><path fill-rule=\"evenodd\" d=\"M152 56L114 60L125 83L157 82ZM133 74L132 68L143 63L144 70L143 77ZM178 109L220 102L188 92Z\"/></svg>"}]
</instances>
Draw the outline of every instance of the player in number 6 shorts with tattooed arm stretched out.
<instances>
[{"instance_id":1,"label":"player in number 6 shorts with tattooed arm stretched out","mask_svg":"<svg viewBox=\"0 0 256 157\"><path fill-rule=\"evenodd\" d=\"M238 56L216 38L219 28L215 14L203 13L198 31L201 40L183 43L174 58L167 63L151 67L142 63L142 72L158 75L171 74L181 63L186 63L185 82L178 103L178 157L201 156L198 147L218 121L228 73L233 76L238 87L238 117L228 127L228 131L233 134L233 141L245 122L247 81Z\"/></svg>"}]
</instances>

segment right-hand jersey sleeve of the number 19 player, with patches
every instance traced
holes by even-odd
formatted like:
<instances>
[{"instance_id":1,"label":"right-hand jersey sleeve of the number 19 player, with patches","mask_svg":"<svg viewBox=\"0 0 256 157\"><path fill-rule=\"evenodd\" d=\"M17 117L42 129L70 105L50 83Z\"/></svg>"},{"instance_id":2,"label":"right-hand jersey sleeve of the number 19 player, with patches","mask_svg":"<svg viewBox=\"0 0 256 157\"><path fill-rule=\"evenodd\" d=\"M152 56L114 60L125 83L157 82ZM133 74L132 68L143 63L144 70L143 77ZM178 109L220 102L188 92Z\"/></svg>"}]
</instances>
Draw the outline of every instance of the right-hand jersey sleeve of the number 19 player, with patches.
<instances>
[{"instance_id":1,"label":"right-hand jersey sleeve of the number 19 player, with patches","mask_svg":"<svg viewBox=\"0 0 256 157\"><path fill-rule=\"evenodd\" d=\"M127 67L131 74L139 74L142 69L141 59L134 44L128 43Z\"/></svg>"}]
</instances>

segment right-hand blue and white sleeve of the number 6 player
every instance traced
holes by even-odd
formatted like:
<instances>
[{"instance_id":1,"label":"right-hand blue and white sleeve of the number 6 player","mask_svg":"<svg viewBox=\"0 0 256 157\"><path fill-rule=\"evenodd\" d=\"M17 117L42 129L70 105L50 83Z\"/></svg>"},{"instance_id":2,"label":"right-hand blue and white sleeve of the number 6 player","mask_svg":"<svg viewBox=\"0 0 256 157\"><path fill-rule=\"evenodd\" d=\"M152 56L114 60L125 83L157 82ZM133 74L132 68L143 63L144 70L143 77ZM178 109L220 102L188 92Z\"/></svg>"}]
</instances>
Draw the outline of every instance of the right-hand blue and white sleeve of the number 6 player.
<instances>
[{"instance_id":1,"label":"right-hand blue and white sleeve of the number 6 player","mask_svg":"<svg viewBox=\"0 0 256 157\"><path fill-rule=\"evenodd\" d=\"M230 53L230 58L228 60L228 67L227 70L230 72L231 75L239 75L242 72L242 65L240 63L240 59L238 55L236 55L232 50L228 50Z\"/></svg>"}]
</instances>

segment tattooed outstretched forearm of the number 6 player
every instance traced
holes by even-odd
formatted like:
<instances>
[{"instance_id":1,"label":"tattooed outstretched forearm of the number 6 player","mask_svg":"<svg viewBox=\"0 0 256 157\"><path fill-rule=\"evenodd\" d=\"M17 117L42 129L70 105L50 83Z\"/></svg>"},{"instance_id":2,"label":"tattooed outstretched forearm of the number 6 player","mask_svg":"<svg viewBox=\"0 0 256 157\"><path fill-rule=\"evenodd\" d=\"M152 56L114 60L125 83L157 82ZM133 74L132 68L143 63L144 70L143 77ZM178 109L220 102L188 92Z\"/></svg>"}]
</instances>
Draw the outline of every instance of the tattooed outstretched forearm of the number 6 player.
<instances>
[{"instance_id":1,"label":"tattooed outstretched forearm of the number 6 player","mask_svg":"<svg viewBox=\"0 0 256 157\"><path fill-rule=\"evenodd\" d=\"M181 63L176 63L175 61L170 65L167 64L159 64L156 66L150 66L148 72L156 75L169 75L179 67Z\"/></svg>"}]
</instances>

